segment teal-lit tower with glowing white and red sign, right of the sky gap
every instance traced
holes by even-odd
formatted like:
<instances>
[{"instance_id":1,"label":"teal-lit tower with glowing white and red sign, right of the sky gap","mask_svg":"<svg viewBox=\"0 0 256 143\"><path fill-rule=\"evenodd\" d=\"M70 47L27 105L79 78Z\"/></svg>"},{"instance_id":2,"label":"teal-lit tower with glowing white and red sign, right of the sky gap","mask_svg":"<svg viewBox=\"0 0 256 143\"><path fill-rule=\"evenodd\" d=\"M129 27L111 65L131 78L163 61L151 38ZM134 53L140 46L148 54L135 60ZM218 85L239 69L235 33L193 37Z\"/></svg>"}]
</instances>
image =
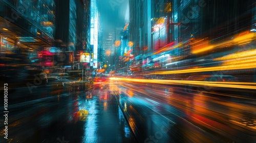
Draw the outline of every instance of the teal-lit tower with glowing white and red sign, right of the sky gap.
<instances>
[{"instance_id":1,"label":"teal-lit tower with glowing white and red sign, right of the sky gap","mask_svg":"<svg viewBox=\"0 0 256 143\"><path fill-rule=\"evenodd\" d=\"M134 43L135 57L132 66L152 66L152 54L172 42L169 25L172 2L137 0L130 1L129 5L131 9L129 39Z\"/></svg>"}]
</instances>

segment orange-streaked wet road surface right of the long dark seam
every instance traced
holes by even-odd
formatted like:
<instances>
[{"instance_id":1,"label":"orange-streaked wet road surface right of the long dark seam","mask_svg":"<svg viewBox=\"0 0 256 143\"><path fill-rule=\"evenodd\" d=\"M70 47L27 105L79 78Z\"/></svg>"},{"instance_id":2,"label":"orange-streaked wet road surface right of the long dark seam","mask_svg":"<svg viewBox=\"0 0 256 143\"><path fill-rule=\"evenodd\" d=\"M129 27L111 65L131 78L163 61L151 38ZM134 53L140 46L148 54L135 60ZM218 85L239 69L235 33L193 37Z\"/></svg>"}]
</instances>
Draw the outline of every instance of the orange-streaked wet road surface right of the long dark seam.
<instances>
[{"instance_id":1,"label":"orange-streaked wet road surface right of the long dark seam","mask_svg":"<svg viewBox=\"0 0 256 143\"><path fill-rule=\"evenodd\" d=\"M256 141L255 97L127 81L110 86L139 141ZM164 121L170 125L159 124ZM163 133L162 128L168 131Z\"/></svg>"}]
</instances>

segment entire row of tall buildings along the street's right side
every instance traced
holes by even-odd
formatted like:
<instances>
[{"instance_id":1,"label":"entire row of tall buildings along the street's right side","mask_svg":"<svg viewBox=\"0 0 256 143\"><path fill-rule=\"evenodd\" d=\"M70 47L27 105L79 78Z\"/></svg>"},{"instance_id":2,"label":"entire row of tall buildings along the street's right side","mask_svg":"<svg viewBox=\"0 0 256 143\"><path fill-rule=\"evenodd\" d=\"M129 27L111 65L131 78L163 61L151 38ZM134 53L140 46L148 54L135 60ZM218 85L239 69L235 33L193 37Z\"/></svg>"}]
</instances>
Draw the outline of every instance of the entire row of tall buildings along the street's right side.
<instances>
[{"instance_id":1,"label":"entire row of tall buildings along the street's right side","mask_svg":"<svg viewBox=\"0 0 256 143\"><path fill-rule=\"evenodd\" d=\"M196 41L204 39L200 43L209 45L241 32L256 31L252 0L136 0L129 5L129 40L134 42L133 52L140 66L158 67L170 62L168 59L197 60L208 53L193 54L195 47L200 47L193 44ZM230 46L219 52L224 54L225 50L241 48Z\"/></svg>"}]
</instances>

